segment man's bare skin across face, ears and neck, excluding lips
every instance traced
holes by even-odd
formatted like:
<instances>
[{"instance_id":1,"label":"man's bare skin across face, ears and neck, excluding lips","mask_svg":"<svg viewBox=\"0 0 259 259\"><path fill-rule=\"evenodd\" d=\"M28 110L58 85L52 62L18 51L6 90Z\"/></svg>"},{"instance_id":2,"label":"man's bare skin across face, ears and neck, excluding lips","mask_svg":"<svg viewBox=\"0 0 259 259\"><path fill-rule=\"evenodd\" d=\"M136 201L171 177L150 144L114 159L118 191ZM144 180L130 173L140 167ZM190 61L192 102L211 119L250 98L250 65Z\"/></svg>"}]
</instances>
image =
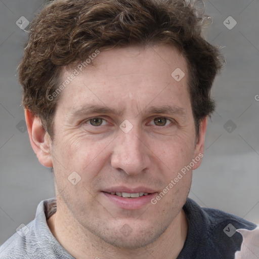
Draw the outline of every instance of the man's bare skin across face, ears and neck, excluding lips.
<instances>
[{"instance_id":1,"label":"man's bare skin across face, ears and neck, excluding lips","mask_svg":"<svg viewBox=\"0 0 259 259\"><path fill-rule=\"evenodd\" d=\"M40 119L25 111L38 160L55 172L57 212L48 220L50 230L78 259L177 258L188 232L182 207L192 170L155 205L121 208L102 191L114 186L147 187L159 194L203 153L207 118L197 136L187 63L172 46L135 46L103 51L93 64L62 91L53 139ZM176 68L185 73L179 82L171 76ZM61 81L71 71L64 69ZM115 113L88 113L86 105L112 108ZM165 105L178 109L148 111ZM91 125L90 118L96 117L103 120ZM133 125L128 133L119 127L124 120ZM73 171L81 177L76 185L68 181ZM121 231L123 226L130 234Z\"/></svg>"}]
</instances>

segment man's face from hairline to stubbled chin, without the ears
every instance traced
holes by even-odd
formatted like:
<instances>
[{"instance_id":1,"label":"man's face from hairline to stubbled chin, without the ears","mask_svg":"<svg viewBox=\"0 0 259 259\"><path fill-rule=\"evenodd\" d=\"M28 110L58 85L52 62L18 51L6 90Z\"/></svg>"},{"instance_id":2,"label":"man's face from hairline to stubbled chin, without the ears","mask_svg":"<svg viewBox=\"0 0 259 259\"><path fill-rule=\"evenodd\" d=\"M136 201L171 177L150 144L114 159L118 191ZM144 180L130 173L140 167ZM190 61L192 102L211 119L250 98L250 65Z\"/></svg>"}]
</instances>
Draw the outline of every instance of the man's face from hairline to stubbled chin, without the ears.
<instances>
[{"instance_id":1,"label":"man's face from hairline to stubbled chin, without the ears","mask_svg":"<svg viewBox=\"0 0 259 259\"><path fill-rule=\"evenodd\" d=\"M183 168L202 149L187 64L171 46L104 51L93 62L57 105L51 143L57 202L86 233L137 248L174 223L191 185L192 169L183 174ZM185 73L180 81L171 76L177 68Z\"/></svg>"}]
</instances>

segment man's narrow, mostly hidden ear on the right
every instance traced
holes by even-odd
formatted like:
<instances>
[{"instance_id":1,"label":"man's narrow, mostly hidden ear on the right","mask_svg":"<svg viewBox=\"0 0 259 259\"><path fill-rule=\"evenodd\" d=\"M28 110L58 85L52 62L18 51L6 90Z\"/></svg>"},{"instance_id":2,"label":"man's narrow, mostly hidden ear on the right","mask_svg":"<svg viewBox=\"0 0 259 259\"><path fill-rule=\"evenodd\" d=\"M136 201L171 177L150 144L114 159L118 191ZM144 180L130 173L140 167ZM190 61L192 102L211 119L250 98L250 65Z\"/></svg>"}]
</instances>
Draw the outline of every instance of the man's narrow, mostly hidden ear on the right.
<instances>
[{"instance_id":1,"label":"man's narrow, mostly hidden ear on the right","mask_svg":"<svg viewBox=\"0 0 259 259\"><path fill-rule=\"evenodd\" d=\"M204 117L200 121L199 136L197 137L197 142L194 150L194 159L196 163L194 163L193 170L197 169L201 164L201 160L204 153L204 143L205 143L205 134L207 130L207 122L208 122L208 116Z\"/></svg>"}]
</instances>

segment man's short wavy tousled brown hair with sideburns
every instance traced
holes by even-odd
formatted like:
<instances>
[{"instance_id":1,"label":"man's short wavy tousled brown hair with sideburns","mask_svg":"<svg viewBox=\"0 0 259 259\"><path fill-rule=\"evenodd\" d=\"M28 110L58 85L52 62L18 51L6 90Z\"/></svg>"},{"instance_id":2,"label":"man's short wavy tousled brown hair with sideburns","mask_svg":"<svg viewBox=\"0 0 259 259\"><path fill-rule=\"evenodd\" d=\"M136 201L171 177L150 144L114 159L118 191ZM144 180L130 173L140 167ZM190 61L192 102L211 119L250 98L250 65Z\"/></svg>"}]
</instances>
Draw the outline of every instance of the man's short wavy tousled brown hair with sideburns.
<instances>
[{"instance_id":1,"label":"man's short wavy tousled brown hair with sideburns","mask_svg":"<svg viewBox=\"0 0 259 259\"><path fill-rule=\"evenodd\" d=\"M190 1L189 1L190 2ZM210 89L223 58L202 36L204 16L184 0L58 0L33 20L18 67L23 105L53 135L57 96L64 66L84 61L96 50L130 45L169 44L188 64L188 87L196 132L214 110Z\"/></svg>"}]
</instances>

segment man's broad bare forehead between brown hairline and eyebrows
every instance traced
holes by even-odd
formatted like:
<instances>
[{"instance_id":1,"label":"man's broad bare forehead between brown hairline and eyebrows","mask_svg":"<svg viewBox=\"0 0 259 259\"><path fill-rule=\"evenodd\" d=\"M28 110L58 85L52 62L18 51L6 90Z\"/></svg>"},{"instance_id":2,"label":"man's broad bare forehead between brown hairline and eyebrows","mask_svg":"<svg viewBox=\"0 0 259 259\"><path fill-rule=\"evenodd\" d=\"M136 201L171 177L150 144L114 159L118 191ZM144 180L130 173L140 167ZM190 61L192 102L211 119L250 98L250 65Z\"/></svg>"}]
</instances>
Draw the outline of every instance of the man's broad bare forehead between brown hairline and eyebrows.
<instances>
[{"instance_id":1,"label":"man's broad bare forehead between brown hairline and eyebrows","mask_svg":"<svg viewBox=\"0 0 259 259\"><path fill-rule=\"evenodd\" d=\"M61 82L69 84L58 106L66 104L63 108L69 111L88 104L138 111L158 103L190 106L187 63L172 46L100 51L91 62L81 63L83 69L79 64L62 71Z\"/></svg>"}]
</instances>

